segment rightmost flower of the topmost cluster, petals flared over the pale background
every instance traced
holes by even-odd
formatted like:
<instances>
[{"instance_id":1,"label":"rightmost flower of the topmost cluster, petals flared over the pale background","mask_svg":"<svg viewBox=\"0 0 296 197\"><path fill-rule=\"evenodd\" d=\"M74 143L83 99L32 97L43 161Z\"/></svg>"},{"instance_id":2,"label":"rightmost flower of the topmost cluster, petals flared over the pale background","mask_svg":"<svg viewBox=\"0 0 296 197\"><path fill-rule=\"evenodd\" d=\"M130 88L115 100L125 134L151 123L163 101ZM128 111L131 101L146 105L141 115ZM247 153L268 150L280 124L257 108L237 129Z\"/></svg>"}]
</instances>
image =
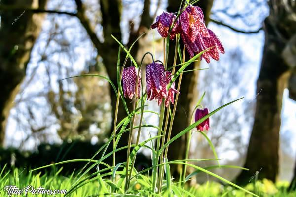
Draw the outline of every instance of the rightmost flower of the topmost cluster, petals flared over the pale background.
<instances>
[{"instance_id":1,"label":"rightmost flower of the topmost cluster, petals flared over the pale background","mask_svg":"<svg viewBox=\"0 0 296 197\"><path fill-rule=\"evenodd\" d=\"M202 37L200 35L198 36L198 41L196 41L196 44L198 45L198 49L199 49L197 53L213 47L201 55L201 57L204 58L207 61L207 63L210 63L210 57L218 61L219 53L224 54L225 50L221 41L215 35L215 33L210 29L208 29L208 32L210 34L210 37Z\"/></svg>"}]
</instances>

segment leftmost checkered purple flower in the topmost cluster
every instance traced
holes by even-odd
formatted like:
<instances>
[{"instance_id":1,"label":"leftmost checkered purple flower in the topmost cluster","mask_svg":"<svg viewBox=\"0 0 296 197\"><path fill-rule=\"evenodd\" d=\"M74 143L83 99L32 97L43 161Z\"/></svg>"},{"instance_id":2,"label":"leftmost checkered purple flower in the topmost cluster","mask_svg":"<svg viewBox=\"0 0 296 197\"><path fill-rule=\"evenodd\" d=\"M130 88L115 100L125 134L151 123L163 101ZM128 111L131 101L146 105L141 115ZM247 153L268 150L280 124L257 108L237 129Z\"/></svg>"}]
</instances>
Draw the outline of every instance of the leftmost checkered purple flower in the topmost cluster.
<instances>
[{"instance_id":1,"label":"leftmost checkered purple flower in the topmost cluster","mask_svg":"<svg viewBox=\"0 0 296 197\"><path fill-rule=\"evenodd\" d=\"M157 28L157 31L161 35L161 37L166 38L175 18L176 16L174 15L174 13L163 12L161 15L156 17L156 22L151 25L151 28ZM175 39L176 34L179 32L179 20L177 20L170 33L170 39Z\"/></svg>"}]
</instances>

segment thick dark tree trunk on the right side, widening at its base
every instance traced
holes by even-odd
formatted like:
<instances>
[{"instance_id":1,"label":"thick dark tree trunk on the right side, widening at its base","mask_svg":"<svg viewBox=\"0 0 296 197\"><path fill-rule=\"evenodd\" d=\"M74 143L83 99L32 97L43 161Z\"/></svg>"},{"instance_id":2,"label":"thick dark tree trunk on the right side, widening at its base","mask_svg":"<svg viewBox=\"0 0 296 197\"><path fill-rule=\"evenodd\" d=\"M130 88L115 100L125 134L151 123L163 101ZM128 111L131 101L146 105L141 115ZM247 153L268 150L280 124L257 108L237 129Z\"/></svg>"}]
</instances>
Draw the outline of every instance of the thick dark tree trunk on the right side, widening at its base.
<instances>
[{"instance_id":1,"label":"thick dark tree trunk on the right side, widening at its base","mask_svg":"<svg viewBox=\"0 0 296 197\"><path fill-rule=\"evenodd\" d=\"M291 71L283 58L283 49L296 33L296 21L292 17L295 3L292 5L292 1L269 1L270 15L264 21L265 44L257 80L260 94L256 98L255 120L244 165L249 171L242 171L238 176L240 184L248 183L256 171L260 171L259 179L272 181L278 174L282 97Z\"/></svg>"}]
</instances>

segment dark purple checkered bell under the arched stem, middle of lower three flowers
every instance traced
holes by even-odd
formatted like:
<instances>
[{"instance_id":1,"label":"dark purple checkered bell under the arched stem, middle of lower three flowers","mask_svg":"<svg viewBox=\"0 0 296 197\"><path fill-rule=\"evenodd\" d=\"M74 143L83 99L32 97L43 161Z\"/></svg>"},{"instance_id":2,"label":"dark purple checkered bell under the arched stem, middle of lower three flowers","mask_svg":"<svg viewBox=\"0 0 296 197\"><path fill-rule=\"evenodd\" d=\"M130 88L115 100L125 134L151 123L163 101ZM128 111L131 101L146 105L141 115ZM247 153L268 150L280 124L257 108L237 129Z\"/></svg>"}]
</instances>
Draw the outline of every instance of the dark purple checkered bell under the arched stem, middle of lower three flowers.
<instances>
[{"instance_id":1,"label":"dark purple checkered bell under the arched stem, middle of lower three flowers","mask_svg":"<svg viewBox=\"0 0 296 197\"><path fill-rule=\"evenodd\" d=\"M157 100L159 95L167 97L166 79L164 66L158 63L151 63L146 66L146 91L147 100Z\"/></svg>"}]
</instances>

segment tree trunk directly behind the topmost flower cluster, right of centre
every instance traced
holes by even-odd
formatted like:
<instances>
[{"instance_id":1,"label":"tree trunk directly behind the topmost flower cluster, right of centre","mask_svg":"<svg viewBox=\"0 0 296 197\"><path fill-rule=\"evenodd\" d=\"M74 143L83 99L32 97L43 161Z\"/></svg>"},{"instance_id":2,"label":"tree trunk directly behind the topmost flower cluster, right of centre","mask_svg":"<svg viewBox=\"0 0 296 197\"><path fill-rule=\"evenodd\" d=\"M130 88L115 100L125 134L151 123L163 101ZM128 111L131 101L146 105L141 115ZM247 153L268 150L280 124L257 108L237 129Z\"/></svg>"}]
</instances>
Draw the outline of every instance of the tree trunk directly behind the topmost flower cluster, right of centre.
<instances>
[{"instance_id":1,"label":"tree trunk directly behind the topmost flower cluster, right of centre","mask_svg":"<svg viewBox=\"0 0 296 197\"><path fill-rule=\"evenodd\" d=\"M201 0L195 4L195 6L199 6L203 10L206 24L209 23L210 11L213 6L213 1L214 0ZM168 12L178 12L180 2L181 1L176 2L176 0L169 0L168 8L167 8ZM173 64L174 51L175 51L175 44L174 42L171 42L168 65ZM186 53L185 61L186 60L189 60L189 56L187 53ZM196 69L196 68L199 68L199 65L200 64L197 62L196 64L190 65L187 69L188 70ZM186 72L183 74L181 90L180 90L181 94L179 95L177 110L174 118L172 137L178 134L180 131L184 130L190 124L190 119L191 119L190 114L192 111L192 106L196 104L196 101L197 101L196 100L197 99L197 92L196 92L197 81L198 81L198 71ZM176 85L177 84L178 82L176 82ZM187 135L184 135L170 145L169 152L168 152L169 161L185 158L186 143L187 143ZM182 168L181 165L172 165L171 171L174 177L179 177L181 168Z\"/></svg>"}]
</instances>

